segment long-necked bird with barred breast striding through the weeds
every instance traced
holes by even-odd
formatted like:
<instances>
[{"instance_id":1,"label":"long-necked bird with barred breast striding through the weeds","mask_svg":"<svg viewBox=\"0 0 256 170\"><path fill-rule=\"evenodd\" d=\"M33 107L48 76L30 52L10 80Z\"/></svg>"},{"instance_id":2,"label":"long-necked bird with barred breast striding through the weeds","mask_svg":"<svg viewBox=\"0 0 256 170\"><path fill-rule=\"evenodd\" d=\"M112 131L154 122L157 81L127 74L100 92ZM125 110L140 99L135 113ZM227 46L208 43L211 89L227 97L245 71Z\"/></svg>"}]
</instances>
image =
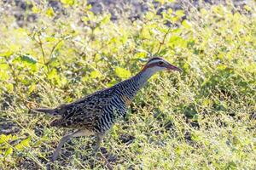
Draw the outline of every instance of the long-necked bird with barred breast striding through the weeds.
<instances>
[{"instance_id":1,"label":"long-necked bird with barred breast striding through the weeds","mask_svg":"<svg viewBox=\"0 0 256 170\"><path fill-rule=\"evenodd\" d=\"M34 111L44 112L57 119L50 122L53 127L67 127L74 130L61 138L50 161L55 161L60 154L61 147L68 139L80 136L96 135L97 152L102 144L102 139L113 124L124 117L132 99L143 88L148 79L158 71L182 71L166 59L153 57L148 59L143 69L135 76L119 82L113 87L96 91L82 99L55 108L38 108Z\"/></svg>"}]
</instances>

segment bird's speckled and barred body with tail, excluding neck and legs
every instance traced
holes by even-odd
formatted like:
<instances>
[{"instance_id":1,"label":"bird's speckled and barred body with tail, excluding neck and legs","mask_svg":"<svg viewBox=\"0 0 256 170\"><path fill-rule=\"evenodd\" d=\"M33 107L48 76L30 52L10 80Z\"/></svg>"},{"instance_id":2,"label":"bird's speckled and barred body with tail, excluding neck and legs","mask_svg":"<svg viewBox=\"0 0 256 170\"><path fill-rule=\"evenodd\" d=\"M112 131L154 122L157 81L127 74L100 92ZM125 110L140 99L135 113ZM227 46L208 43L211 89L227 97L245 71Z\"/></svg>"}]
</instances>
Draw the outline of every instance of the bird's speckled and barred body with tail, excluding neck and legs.
<instances>
[{"instance_id":1,"label":"bird's speckled and barred body with tail, excluding neck and legs","mask_svg":"<svg viewBox=\"0 0 256 170\"><path fill-rule=\"evenodd\" d=\"M119 116L125 115L127 106L138 89L137 82L128 79L73 103L60 105L52 111L46 109L43 112L61 116L51 123L52 126L84 127L102 133L112 127Z\"/></svg>"}]
</instances>

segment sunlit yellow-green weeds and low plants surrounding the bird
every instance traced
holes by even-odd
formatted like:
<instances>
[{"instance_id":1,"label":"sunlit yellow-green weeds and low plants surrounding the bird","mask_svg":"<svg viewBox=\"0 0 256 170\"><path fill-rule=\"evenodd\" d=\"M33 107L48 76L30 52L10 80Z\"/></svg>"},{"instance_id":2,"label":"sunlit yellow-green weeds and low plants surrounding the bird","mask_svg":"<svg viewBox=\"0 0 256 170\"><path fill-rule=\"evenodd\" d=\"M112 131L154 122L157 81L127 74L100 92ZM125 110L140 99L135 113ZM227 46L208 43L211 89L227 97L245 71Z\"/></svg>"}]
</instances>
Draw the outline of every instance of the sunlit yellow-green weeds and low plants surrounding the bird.
<instances>
[{"instance_id":1,"label":"sunlit yellow-green weeds and low plants surrounding the bird","mask_svg":"<svg viewBox=\"0 0 256 170\"><path fill-rule=\"evenodd\" d=\"M183 73L152 77L108 133L102 152L113 167L256 169L255 1L161 14L150 3L139 20L115 21L86 3L61 3L62 12L31 3L25 17L38 18L21 27L13 15L1 15L0 169L44 169L68 132L30 109L110 87L153 55ZM90 168L94 142L72 139L53 167Z\"/></svg>"}]
</instances>

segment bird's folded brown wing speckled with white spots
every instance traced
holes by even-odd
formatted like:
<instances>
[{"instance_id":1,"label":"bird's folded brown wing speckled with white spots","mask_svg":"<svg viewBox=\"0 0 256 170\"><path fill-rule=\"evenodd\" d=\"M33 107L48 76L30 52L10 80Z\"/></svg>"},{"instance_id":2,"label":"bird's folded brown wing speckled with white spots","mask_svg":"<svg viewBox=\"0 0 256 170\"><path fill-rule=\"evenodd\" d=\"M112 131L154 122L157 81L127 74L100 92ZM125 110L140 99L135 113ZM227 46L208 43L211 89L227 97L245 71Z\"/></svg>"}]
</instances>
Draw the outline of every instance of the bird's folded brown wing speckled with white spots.
<instances>
[{"instance_id":1,"label":"bird's folded brown wing speckled with white spots","mask_svg":"<svg viewBox=\"0 0 256 170\"><path fill-rule=\"evenodd\" d=\"M102 116L103 109L110 104L112 100L111 94L111 90L100 91L71 104L61 105L58 108L61 119L55 120L51 125L92 128Z\"/></svg>"}]
</instances>

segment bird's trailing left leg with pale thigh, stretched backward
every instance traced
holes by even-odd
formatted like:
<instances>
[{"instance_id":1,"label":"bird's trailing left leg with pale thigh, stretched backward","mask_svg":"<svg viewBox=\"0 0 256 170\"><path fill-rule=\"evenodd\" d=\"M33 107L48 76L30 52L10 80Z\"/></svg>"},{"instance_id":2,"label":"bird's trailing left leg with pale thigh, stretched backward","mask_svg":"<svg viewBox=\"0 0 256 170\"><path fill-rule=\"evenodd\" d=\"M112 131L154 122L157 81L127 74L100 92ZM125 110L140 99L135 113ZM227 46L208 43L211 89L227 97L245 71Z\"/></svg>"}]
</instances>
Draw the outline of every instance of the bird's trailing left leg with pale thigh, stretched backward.
<instances>
[{"instance_id":1,"label":"bird's trailing left leg with pale thigh, stretched backward","mask_svg":"<svg viewBox=\"0 0 256 170\"><path fill-rule=\"evenodd\" d=\"M63 144L65 144L65 142L67 142L67 139L73 138L73 137L79 137L79 136L88 136L90 135L91 132L83 129L83 130L77 130L73 133L69 133L67 135L65 135L64 137L62 137L61 142L58 144L53 156L51 157L50 161L55 161L57 159L57 157L59 156L59 153L61 151L61 147L63 146Z\"/></svg>"}]
</instances>

